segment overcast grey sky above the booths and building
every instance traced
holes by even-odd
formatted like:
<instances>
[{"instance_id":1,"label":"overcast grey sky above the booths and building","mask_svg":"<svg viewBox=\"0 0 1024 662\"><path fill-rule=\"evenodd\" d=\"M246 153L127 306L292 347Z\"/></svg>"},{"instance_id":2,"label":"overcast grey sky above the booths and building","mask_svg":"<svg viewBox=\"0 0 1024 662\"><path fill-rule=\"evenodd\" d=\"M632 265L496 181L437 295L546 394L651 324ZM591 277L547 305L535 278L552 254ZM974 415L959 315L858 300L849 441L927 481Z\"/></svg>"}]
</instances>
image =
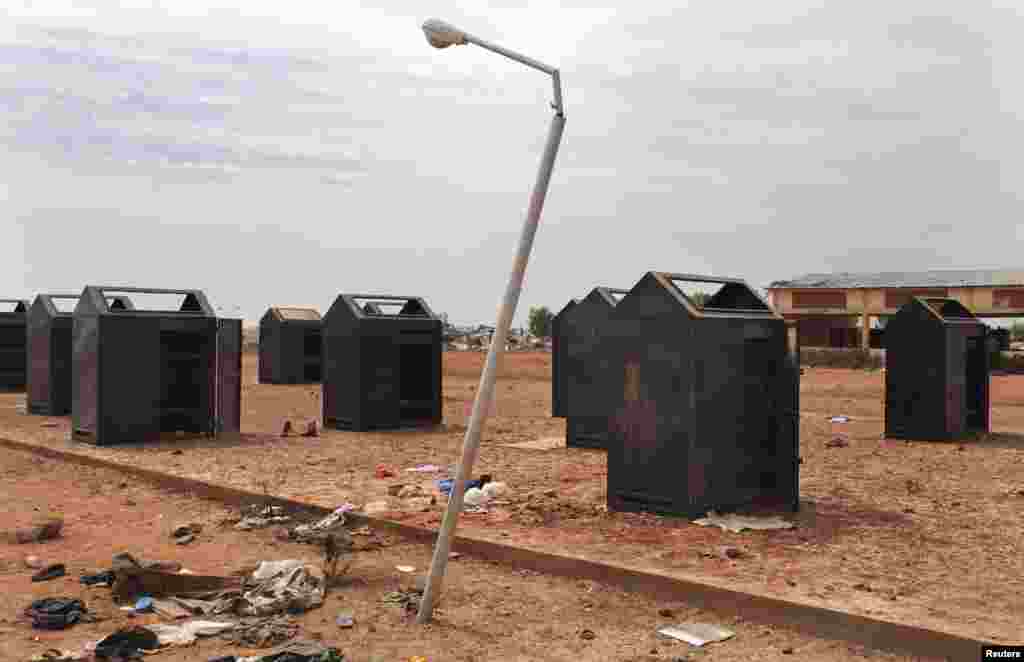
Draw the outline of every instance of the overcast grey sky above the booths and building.
<instances>
[{"instance_id":1,"label":"overcast grey sky above the booths and building","mask_svg":"<svg viewBox=\"0 0 1024 662\"><path fill-rule=\"evenodd\" d=\"M430 15L562 70L517 324L649 270L1022 266L1012 2L210 4L3 3L0 297L198 287L256 320L413 294L492 322L550 86L430 48Z\"/></svg>"}]
</instances>

